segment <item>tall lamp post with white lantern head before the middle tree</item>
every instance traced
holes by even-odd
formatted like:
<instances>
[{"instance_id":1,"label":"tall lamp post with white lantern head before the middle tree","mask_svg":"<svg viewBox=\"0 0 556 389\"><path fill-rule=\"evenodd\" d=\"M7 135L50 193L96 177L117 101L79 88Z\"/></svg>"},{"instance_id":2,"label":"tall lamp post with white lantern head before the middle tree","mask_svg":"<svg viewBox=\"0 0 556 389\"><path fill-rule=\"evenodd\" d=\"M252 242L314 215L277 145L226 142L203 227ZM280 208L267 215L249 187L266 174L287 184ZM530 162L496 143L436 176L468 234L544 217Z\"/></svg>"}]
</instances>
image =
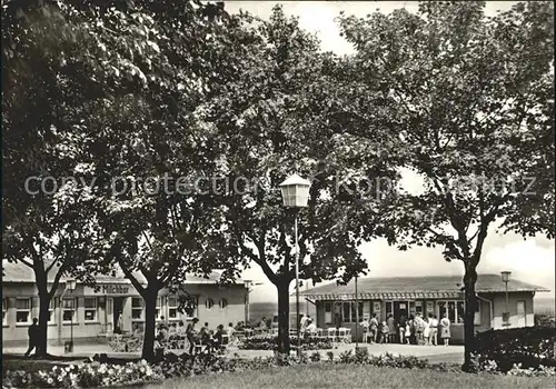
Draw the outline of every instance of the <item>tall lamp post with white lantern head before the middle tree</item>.
<instances>
[{"instance_id":1,"label":"tall lamp post with white lantern head before the middle tree","mask_svg":"<svg viewBox=\"0 0 556 389\"><path fill-rule=\"evenodd\" d=\"M289 177L280 183L284 207L296 209L295 239L296 239L296 327L297 327L297 356L301 356L301 333L299 322L299 247L297 237L297 217L300 208L307 207L310 182L298 174Z\"/></svg>"}]
</instances>

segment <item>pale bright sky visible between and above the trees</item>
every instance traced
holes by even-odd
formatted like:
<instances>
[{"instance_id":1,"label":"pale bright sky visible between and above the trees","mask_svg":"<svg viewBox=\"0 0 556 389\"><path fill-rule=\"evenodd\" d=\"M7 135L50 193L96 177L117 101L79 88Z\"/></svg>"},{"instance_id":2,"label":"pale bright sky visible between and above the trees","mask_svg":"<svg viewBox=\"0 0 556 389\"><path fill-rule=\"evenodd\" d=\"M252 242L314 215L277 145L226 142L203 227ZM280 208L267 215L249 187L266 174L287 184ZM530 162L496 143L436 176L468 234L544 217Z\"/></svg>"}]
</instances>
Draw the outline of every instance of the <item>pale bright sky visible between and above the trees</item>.
<instances>
[{"instance_id":1,"label":"pale bright sky visible between and above the trees","mask_svg":"<svg viewBox=\"0 0 556 389\"><path fill-rule=\"evenodd\" d=\"M244 9L255 16L267 18L276 3L281 3L287 14L299 17L301 28L317 33L325 51L330 50L338 54L353 52L350 44L339 36L339 29L335 23L335 18L340 11L365 17L376 10L389 13L399 8L414 12L418 7L415 1L226 1L226 9L232 13ZM516 1L487 1L485 13L495 16L498 10L508 10L514 3ZM411 178L408 178L407 183L413 187L419 186ZM542 237L524 240L516 235L500 236L490 231L477 270L479 273L512 271L515 279L550 290L538 293L538 297L554 298L556 289L554 250L554 240ZM446 262L440 248L413 248L399 251L395 247L389 247L384 240L374 240L364 243L360 251L368 262L368 277L464 275L463 263ZM258 265L252 263L242 276L244 279L262 283L254 288L250 295L251 302L277 301L276 288L267 281Z\"/></svg>"}]
</instances>

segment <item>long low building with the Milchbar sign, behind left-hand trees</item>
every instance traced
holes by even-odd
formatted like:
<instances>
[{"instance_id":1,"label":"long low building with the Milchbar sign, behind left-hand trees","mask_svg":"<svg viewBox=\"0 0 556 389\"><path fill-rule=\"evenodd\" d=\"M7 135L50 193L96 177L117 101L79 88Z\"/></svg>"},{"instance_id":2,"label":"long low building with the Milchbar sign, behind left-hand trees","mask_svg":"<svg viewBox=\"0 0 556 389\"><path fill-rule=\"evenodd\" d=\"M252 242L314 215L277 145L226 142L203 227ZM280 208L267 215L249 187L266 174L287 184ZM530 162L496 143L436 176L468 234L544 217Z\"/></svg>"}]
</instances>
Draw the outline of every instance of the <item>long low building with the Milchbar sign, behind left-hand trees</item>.
<instances>
[{"instance_id":1,"label":"long low building with the Milchbar sign, behind left-hand trees","mask_svg":"<svg viewBox=\"0 0 556 389\"><path fill-rule=\"evenodd\" d=\"M3 343L28 340L28 328L39 317L39 297L30 270L18 265L4 265L2 279L2 336ZM178 310L178 296L168 289L160 290L157 300L157 322L185 325L193 317L210 328L245 320L246 292L242 282L220 286L218 273L209 279L187 277L185 289L196 300L193 312L188 316ZM49 286L50 288L50 286ZM142 328L145 305L131 282L119 277L98 277L97 287L77 283L68 289L66 280L50 302L48 325L49 343L69 340L71 328L76 341L102 338L115 329L131 331Z\"/></svg>"}]
</instances>

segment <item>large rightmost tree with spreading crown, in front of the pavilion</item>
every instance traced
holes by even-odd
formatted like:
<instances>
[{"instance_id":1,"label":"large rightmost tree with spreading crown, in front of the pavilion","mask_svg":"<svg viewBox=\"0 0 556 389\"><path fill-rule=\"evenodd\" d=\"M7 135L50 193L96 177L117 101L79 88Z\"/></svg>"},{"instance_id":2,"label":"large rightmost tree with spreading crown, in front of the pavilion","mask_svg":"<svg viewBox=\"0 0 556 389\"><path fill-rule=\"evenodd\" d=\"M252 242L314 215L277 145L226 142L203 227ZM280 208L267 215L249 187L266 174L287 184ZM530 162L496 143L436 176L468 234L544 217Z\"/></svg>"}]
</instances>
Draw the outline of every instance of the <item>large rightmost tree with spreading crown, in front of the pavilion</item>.
<instances>
[{"instance_id":1,"label":"large rightmost tree with spreading crown, in front of the pavilion","mask_svg":"<svg viewBox=\"0 0 556 389\"><path fill-rule=\"evenodd\" d=\"M443 246L464 265L467 371L489 227L554 238L553 6L518 3L494 18L483 8L421 2L416 14L340 17L354 74L386 107L379 121L407 152L404 166L427 180L390 215L399 247Z\"/></svg>"}]
</instances>

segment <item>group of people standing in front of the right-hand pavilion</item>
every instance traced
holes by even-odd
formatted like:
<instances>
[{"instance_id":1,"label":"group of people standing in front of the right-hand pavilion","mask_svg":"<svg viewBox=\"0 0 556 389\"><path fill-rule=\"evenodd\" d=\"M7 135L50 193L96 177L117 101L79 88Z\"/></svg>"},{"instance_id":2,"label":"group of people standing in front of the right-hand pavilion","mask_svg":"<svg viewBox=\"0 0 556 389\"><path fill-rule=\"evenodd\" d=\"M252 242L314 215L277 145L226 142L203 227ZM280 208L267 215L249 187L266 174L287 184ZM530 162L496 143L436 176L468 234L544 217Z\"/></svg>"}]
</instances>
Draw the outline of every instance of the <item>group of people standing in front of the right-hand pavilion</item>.
<instances>
[{"instance_id":1,"label":"group of people standing in front of the right-hand pavilion","mask_svg":"<svg viewBox=\"0 0 556 389\"><path fill-rule=\"evenodd\" d=\"M379 321L376 313L370 319L364 318L360 322L364 332L364 340L370 343L407 343L437 346L438 337L448 346L450 333L450 321L445 313L441 320L436 315L429 313L423 317L417 312L408 318L401 316L399 321L389 313L387 319Z\"/></svg>"}]
</instances>

